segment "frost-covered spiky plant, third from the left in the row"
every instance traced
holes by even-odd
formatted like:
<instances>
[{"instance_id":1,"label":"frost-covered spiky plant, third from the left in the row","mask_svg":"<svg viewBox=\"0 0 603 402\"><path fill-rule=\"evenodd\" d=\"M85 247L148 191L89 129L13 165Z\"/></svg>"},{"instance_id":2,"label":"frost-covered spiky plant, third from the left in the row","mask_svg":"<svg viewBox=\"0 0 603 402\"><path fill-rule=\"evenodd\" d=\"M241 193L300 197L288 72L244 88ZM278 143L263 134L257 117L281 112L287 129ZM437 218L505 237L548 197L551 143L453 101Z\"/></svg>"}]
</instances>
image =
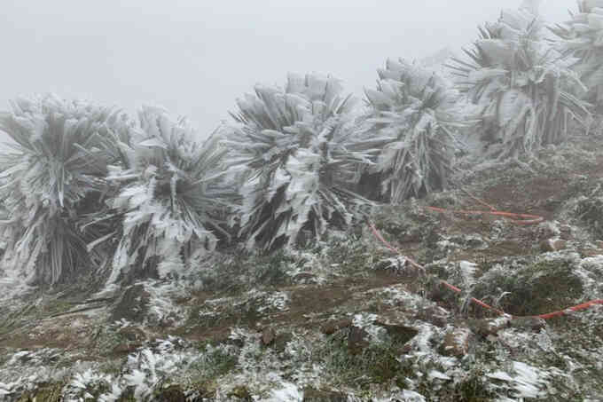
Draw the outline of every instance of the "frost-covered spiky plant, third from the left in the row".
<instances>
[{"instance_id":1,"label":"frost-covered spiky plant, third from the left in the row","mask_svg":"<svg viewBox=\"0 0 603 402\"><path fill-rule=\"evenodd\" d=\"M242 175L240 235L247 248L270 250L319 239L327 225L348 225L370 202L350 188L356 163L354 99L340 81L289 75L286 87L255 86L238 99L228 129L231 166Z\"/></svg>"}]
</instances>

